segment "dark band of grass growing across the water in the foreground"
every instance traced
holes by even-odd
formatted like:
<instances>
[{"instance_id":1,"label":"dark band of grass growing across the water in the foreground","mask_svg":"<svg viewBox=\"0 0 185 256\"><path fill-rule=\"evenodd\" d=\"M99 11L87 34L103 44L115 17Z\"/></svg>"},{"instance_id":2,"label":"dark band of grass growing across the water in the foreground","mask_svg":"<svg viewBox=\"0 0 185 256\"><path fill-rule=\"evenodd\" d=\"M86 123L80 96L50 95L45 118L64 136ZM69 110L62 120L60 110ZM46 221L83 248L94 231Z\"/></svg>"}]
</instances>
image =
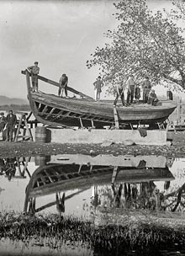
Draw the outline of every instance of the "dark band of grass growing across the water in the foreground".
<instances>
[{"instance_id":1,"label":"dark band of grass growing across the water in the foreground","mask_svg":"<svg viewBox=\"0 0 185 256\"><path fill-rule=\"evenodd\" d=\"M39 246L60 249L64 245L92 248L100 255L119 255L125 249L166 248L173 244L185 245L185 230L162 227L155 223L140 222L134 227L125 225L94 226L77 217L58 215L17 214L0 212L0 238L35 241ZM112 254L112 253L117 254ZM103 253L103 254L102 254Z\"/></svg>"}]
</instances>

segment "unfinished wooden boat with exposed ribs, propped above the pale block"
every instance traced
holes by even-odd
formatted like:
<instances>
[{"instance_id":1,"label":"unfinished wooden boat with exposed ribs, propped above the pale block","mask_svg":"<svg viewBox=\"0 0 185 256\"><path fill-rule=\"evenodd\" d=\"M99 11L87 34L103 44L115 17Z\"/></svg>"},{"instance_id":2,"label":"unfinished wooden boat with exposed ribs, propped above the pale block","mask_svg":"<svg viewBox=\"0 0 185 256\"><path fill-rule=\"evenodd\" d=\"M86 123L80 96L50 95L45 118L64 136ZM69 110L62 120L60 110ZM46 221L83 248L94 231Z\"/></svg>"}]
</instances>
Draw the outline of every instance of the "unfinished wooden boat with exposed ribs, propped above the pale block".
<instances>
[{"instance_id":1,"label":"unfinished wooden boat with exposed ribs, propped above the pale block","mask_svg":"<svg viewBox=\"0 0 185 256\"><path fill-rule=\"evenodd\" d=\"M113 106L111 100L94 101L84 93L68 87L68 91L78 94L82 99L61 98L49 93L34 93L30 86L29 72L26 75L28 98L31 110L39 122L51 126L95 126L103 128L114 125L114 115L118 116L119 125L154 125L164 122L177 104L163 101L161 105L133 104L128 107ZM38 76L41 81L59 86L59 83Z\"/></svg>"}]
</instances>

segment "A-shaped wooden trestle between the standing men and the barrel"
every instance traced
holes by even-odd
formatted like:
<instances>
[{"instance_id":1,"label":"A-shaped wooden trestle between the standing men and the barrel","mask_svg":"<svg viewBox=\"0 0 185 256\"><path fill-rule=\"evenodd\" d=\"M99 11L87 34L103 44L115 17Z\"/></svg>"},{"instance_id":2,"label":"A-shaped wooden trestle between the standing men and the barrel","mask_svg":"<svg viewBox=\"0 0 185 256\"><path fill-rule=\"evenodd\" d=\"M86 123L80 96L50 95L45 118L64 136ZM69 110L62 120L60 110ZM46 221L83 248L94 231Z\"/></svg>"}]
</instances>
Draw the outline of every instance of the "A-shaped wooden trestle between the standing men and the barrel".
<instances>
[{"instance_id":1,"label":"A-shaped wooden trestle between the standing men and the barrel","mask_svg":"<svg viewBox=\"0 0 185 256\"><path fill-rule=\"evenodd\" d=\"M25 131L25 133L23 133L23 135L19 136L21 125L23 125L23 122L24 122L24 125L26 127L26 131ZM28 135L26 135L26 132L28 132ZM25 113L22 113L20 115L20 119L19 119L19 122L18 122L18 130L17 130L16 136L15 136L15 141L16 142L18 141L19 137L21 137L23 140L30 139L31 141L33 141L33 136L32 136L31 131L29 129L29 125L28 125Z\"/></svg>"}]
</instances>

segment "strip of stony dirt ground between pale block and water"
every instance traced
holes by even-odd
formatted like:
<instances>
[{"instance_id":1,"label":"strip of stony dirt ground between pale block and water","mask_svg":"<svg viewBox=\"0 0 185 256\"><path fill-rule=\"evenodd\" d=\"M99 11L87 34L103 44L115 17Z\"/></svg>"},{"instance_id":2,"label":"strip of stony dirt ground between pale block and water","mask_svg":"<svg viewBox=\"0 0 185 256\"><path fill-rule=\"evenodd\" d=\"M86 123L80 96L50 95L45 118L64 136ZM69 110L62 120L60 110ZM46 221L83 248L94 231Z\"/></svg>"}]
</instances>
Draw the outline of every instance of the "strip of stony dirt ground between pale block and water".
<instances>
[{"instance_id":1,"label":"strip of stony dirt ground between pale block and water","mask_svg":"<svg viewBox=\"0 0 185 256\"><path fill-rule=\"evenodd\" d=\"M166 157L185 157L185 131L171 132L173 141L171 146L124 146L113 144L102 147L101 144L39 144L32 141L7 142L0 141L0 157L23 157L38 154L113 154L118 155L162 155Z\"/></svg>"}]
</instances>

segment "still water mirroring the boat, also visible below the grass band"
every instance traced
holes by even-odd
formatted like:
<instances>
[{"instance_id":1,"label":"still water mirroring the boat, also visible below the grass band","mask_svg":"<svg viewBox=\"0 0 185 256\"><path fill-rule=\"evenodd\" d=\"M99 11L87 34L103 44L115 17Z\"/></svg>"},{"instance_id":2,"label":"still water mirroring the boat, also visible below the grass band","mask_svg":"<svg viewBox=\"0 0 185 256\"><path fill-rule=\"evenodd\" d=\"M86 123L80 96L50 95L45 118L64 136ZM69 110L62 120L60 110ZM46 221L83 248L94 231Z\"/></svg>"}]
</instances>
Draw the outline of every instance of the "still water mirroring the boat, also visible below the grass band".
<instances>
[{"instance_id":1,"label":"still water mirroring the boat, also visible below the grass band","mask_svg":"<svg viewBox=\"0 0 185 256\"><path fill-rule=\"evenodd\" d=\"M139 217L145 222L146 212L161 214L159 221L164 216L175 217L179 227L184 218L185 158L154 155L2 158L0 174L0 210L14 211L15 215L24 211L37 216L72 216L90 221L96 228L119 227L128 221L138 225L135 219ZM96 251L79 244L63 244L60 250L53 248L52 253L99 255ZM44 255L50 254L50 249L46 243L35 245L35 240L25 246L24 242L3 238L0 253L8 252ZM139 255L136 249L127 253ZM157 251L157 255L177 254L185 255L180 243Z\"/></svg>"}]
</instances>

